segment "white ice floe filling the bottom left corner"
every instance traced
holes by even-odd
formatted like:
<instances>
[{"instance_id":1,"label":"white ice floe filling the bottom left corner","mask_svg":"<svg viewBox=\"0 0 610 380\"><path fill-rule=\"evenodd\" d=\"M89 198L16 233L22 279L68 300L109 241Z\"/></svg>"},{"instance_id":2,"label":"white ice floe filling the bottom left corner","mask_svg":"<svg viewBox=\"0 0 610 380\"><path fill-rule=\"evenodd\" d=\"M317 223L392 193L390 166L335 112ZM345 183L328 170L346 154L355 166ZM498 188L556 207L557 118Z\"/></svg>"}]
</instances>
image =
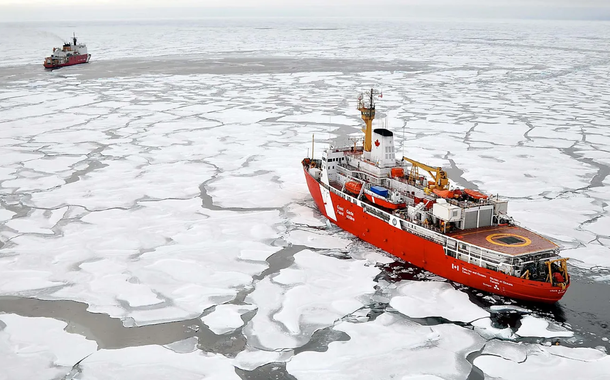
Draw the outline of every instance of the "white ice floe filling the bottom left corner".
<instances>
[{"instance_id":1,"label":"white ice floe filling the bottom left corner","mask_svg":"<svg viewBox=\"0 0 610 380\"><path fill-rule=\"evenodd\" d=\"M0 314L0 378L62 378L97 350L95 342L64 331L66 326L51 318Z\"/></svg>"}]
</instances>

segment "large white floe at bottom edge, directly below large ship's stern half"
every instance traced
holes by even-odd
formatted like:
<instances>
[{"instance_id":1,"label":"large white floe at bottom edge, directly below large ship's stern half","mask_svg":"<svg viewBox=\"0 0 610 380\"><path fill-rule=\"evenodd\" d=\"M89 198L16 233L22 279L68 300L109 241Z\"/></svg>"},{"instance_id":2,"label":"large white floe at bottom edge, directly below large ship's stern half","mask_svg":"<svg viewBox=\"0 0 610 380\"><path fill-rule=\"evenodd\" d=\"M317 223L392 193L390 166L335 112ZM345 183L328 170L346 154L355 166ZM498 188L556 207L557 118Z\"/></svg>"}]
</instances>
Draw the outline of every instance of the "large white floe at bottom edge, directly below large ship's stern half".
<instances>
[{"instance_id":1,"label":"large white floe at bottom edge, directly below large ship's stern half","mask_svg":"<svg viewBox=\"0 0 610 380\"><path fill-rule=\"evenodd\" d=\"M299 380L417 379L424 375L461 380L471 370L466 356L484 342L456 325L422 326L387 312L372 322L341 322L334 328L350 339L330 343L326 352L296 355L286 364L291 375Z\"/></svg>"}]
</instances>

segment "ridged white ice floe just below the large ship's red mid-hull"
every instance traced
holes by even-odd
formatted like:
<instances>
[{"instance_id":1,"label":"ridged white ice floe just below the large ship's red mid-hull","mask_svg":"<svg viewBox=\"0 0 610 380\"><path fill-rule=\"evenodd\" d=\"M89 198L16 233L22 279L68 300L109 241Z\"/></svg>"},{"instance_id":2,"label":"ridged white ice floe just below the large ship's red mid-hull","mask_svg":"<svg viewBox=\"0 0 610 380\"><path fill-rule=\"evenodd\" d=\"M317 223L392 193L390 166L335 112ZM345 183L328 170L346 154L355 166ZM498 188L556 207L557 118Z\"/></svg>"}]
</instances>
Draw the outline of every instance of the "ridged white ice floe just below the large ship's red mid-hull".
<instances>
[{"instance_id":1,"label":"ridged white ice floe just below the large ship's red mid-hull","mask_svg":"<svg viewBox=\"0 0 610 380\"><path fill-rule=\"evenodd\" d=\"M258 306L244 329L248 342L270 350L305 344L316 330L364 306L378 273L364 261L297 253L293 266L261 280L246 298Z\"/></svg>"}]
</instances>

